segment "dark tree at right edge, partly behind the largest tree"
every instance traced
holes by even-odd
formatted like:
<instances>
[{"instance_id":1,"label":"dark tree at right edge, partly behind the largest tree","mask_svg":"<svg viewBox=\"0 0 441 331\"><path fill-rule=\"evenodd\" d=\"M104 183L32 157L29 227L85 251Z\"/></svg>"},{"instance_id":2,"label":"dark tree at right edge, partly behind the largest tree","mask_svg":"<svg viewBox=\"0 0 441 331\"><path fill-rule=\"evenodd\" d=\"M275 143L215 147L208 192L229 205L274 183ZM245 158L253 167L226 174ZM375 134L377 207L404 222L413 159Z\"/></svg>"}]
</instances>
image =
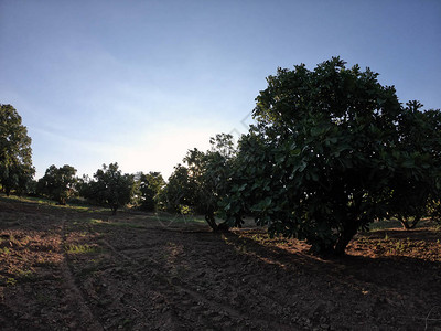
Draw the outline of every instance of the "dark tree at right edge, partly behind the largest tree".
<instances>
[{"instance_id":1,"label":"dark tree at right edge, partly behind the largest tree","mask_svg":"<svg viewBox=\"0 0 441 331\"><path fill-rule=\"evenodd\" d=\"M421 217L430 216L428 204L433 205L431 201L439 199L441 191L441 113L421 108L420 103L409 102L398 126L399 148L404 151L401 166L406 171L396 171L389 214L407 229L413 228ZM423 169L418 168L421 159Z\"/></svg>"}]
</instances>

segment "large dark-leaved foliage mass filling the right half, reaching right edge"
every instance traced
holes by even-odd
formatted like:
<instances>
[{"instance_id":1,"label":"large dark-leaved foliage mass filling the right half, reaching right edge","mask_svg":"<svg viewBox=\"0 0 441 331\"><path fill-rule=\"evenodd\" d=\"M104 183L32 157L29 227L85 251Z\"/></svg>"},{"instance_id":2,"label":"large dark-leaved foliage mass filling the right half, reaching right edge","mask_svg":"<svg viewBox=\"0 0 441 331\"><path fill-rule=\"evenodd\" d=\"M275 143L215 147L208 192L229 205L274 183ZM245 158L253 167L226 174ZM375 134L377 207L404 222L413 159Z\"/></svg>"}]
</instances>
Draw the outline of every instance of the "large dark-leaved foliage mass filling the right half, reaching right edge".
<instances>
[{"instance_id":1,"label":"large dark-leaved foliage mass filling the right half, reaching right edge","mask_svg":"<svg viewBox=\"0 0 441 331\"><path fill-rule=\"evenodd\" d=\"M439 189L439 131L377 76L338 57L269 76L254 109L258 124L239 142L224 217L239 225L249 214L272 235L341 255L375 218L426 205Z\"/></svg>"}]
</instances>

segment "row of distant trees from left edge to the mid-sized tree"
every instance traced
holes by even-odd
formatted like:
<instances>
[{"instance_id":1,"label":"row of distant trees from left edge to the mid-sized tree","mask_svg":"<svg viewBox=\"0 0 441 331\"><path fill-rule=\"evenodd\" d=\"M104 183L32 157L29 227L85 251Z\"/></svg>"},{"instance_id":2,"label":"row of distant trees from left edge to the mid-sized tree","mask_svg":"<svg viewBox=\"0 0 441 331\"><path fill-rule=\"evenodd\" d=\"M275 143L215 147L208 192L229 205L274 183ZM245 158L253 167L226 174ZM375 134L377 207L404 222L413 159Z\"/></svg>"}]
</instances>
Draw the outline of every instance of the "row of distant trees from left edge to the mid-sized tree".
<instances>
[{"instance_id":1,"label":"row of distant trees from left edge to the mid-sized tree","mask_svg":"<svg viewBox=\"0 0 441 331\"><path fill-rule=\"evenodd\" d=\"M32 166L31 138L22 119L11 105L0 105L0 188L10 195L46 196L58 204L84 197L88 203L109 206L115 214L126 204L144 211L154 211L158 193L165 185L159 172L122 174L118 163L103 164L93 179L76 177L68 164L51 166L35 181ZM78 200L77 200L78 202Z\"/></svg>"}]
</instances>

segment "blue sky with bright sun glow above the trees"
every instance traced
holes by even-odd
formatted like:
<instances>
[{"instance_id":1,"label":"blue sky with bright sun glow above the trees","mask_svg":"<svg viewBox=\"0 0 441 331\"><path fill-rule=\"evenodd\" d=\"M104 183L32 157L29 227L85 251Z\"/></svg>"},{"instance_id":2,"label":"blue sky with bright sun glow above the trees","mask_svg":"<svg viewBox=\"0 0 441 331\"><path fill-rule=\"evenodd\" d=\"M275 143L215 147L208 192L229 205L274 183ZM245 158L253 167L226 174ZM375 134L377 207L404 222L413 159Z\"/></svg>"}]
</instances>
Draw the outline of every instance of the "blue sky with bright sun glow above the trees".
<instances>
[{"instance_id":1,"label":"blue sky with bright sun glow above the trees","mask_svg":"<svg viewBox=\"0 0 441 331\"><path fill-rule=\"evenodd\" d=\"M165 178L187 149L245 132L278 66L340 55L441 107L441 1L0 0L0 103L55 164ZM245 125L244 125L245 124Z\"/></svg>"}]
</instances>

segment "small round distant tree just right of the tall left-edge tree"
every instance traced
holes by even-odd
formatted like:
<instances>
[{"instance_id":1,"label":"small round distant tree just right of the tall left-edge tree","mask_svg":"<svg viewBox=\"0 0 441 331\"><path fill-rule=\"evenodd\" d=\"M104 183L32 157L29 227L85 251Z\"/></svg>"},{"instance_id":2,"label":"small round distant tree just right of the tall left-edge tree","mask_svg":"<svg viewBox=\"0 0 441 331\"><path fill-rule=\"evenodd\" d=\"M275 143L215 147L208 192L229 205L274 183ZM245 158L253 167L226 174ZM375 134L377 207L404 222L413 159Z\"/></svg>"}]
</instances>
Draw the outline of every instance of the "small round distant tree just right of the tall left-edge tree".
<instances>
[{"instance_id":1,"label":"small round distant tree just right of the tall left-edge tree","mask_svg":"<svg viewBox=\"0 0 441 331\"><path fill-rule=\"evenodd\" d=\"M39 194L47 195L58 204L65 205L66 201L75 194L76 169L68 164L56 168L54 164L46 169L44 175L36 184Z\"/></svg>"}]
</instances>

